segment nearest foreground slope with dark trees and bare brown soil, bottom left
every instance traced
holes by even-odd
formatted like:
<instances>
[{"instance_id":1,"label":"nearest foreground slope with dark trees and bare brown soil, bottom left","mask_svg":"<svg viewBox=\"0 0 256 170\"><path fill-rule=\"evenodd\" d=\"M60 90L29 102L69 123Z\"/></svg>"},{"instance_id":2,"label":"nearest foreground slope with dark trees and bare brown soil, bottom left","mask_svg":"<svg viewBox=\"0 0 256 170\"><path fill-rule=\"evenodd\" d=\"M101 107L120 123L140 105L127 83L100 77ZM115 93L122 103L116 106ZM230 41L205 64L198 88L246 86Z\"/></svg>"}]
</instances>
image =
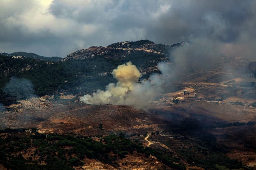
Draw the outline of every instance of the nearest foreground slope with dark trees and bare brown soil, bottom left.
<instances>
[{"instance_id":1,"label":"nearest foreground slope with dark trees and bare brown soil, bottom left","mask_svg":"<svg viewBox=\"0 0 256 170\"><path fill-rule=\"evenodd\" d=\"M8 131L8 129L6 130ZM149 147L144 148L142 145L126 139L122 134L99 136L100 141L95 141L92 137L81 135L56 134L45 137L45 135L38 134L35 129L33 132L36 134L19 132L2 138L1 150L4 152L0 153L0 163L6 168L12 169L72 170L74 168L130 169L136 167L143 169L150 167L155 169L186 169L184 164L172 163L175 159L169 156L170 154L163 156L161 152ZM0 134L0 137L3 136L5 134ZM17 152L21 153L17 154ZM12 153L12 155L5 153ZM149 155L151 154L158 157L163 163L150 158ZM92 161L93 163L91 163ZM147 164L147 162L151 163Z\"/></svg>"}]
</instances>

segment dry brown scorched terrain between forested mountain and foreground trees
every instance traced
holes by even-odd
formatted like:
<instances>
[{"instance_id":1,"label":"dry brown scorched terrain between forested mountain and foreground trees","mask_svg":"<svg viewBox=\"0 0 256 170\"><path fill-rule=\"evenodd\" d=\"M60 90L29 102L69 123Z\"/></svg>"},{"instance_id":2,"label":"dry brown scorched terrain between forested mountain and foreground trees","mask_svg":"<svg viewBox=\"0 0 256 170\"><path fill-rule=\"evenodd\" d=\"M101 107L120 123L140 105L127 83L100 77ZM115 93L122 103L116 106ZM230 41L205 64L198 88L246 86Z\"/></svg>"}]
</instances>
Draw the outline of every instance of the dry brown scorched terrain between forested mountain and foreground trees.
<instances>
[{"instance_id":1,"label":"dry brown scorched terrain between forested mountain and foreground trees","mask_svg":"<svg viewBox=\"0 0 256 170\"><path fill-rule=\"evenodd\" d=\"M232 61L232 64L233 69L237 69L248 62ZM214 147L222 154L256 167L256 125L245 124L256 122L256 108L246 106L256 102L256 89L224 85L231 80L241 80L238 78L241 75L226 70L221 66L211 71L183 74L178 90L171 87L162 94L161 100L150 102L146 111L132 106L86 105L72 100L74 96L61 96L62 100L52 102L32 98L6 106L7 110L0 115L0 123L2 129L36 127L42 133L104 136L124 132L145 147L172 152L188 169L202 168L194 166L193 160L187 160L183 153L191 151L203 159L210 151L204 150L201 142L212 135L216 138ZM184 90L191 95L184 95ZM194 96L194 93L198 95ZM180 101L173 103L172 97L180 98ZM233 122L244 124L234 125ZM155 135L156 132L160 134ZM99 140L97 137L93 139ZM85 169L114 169L97 160L86 159L84 162ZM166 169L157 159L137 153L129 154L119 166L122 169Z\"/></svg>"}]
</instances>

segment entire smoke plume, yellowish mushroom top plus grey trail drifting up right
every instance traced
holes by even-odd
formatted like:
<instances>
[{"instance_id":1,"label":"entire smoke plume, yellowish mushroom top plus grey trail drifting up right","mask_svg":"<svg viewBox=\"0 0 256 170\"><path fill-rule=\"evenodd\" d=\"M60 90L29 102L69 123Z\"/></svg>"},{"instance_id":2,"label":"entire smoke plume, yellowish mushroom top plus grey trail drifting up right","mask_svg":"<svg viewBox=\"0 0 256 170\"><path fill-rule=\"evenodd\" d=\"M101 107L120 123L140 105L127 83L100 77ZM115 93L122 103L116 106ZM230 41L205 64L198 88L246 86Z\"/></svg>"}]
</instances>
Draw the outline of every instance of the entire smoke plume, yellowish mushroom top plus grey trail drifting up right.
<instances>
[{"instance_id":1,"label":"entire smoke plume, yellowish mushroom top plus grey trail drifting up right","mask_svg":"<svg viewBox=\"0 0 256 170\"><path fill-rule=\"evenodd\" d=\"M118 81L116 84L110 83L105 91L98 90L92 95L86 94L80 101L97 105L133 105L137 109L147 110L148 102L156 100L163 93L175 90L176 86L184 81L200 77L201 74L207 75L203 81L209 82L232 79L228 74L231 72L229 68L226 68L227 74L223 75L208 73L222 63L222 58L225 57L221 51L223 44L207 38L193 40L173 48L169 60L158 63L158 70L162 74L152 74L147 81L142 80L139 83L139 70L128 62L113 70L112 75Z\"/></svg>"}]
</instances>

